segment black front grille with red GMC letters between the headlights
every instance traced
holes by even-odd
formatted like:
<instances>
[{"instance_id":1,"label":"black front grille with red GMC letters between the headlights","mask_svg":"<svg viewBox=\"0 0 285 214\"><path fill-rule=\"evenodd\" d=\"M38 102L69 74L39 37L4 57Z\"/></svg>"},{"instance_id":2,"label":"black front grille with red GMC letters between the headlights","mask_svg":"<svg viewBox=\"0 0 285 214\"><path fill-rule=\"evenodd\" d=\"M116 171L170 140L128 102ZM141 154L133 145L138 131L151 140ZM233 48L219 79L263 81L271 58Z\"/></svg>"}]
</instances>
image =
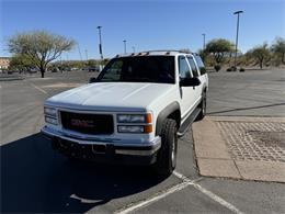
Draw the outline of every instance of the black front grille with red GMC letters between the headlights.
<instances>
[{"instance_id":1,"label":"black front grille with red GMC letters between the headlights","mask_svg":"<svg viewBox=\"0 0 285 214\"><path fill-rule=\"evenodd\" d=\"M111 135L114 132L110 114L84 114L60 111L61 124L66 129L91 135Z\"/></svg>"}]
</instances>

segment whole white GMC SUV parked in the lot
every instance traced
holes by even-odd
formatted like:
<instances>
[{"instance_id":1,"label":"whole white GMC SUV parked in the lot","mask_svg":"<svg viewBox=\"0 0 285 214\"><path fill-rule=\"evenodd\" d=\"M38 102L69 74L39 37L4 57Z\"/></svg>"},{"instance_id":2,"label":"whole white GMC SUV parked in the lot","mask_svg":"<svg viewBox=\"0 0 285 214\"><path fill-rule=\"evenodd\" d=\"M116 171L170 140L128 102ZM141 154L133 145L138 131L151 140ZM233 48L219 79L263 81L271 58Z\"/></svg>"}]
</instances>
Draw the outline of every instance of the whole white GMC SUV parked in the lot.
<instances>
[{"instance_id":1,"label":"whole white GMC SUV parked in the lot","mask_svg":"<svg viewBox=\"0 0 285 214\"><path fill-rule=\"evenodd\" d=\"M175 168L178 136L206 112L201 57L176 50L117 55L90 83L45 102L42 133L70 158Z\"/></svg>"}]
</instances>

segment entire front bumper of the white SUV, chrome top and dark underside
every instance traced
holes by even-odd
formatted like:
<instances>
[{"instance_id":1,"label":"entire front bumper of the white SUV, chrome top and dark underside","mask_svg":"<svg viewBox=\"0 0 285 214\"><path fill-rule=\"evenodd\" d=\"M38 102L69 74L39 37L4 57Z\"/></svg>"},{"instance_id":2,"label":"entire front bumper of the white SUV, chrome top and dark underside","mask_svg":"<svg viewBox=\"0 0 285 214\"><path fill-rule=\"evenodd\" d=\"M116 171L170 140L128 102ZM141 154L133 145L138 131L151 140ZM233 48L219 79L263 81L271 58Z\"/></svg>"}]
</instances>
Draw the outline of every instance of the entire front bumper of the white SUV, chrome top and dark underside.
<instances>
[{"instance_id":1,"label":"entire front bumper of the white SUV, chrome top and dark underside","mask_svg":"<svg viewBox=\"0 0 285 214\"><path fill-rule=\"evenodd\" d=\"M157 151L161 146L160 137L144 144L126 144L76 138L47 126L42 128L42 133L52 139L54 149L66 156L107 162L150 165L156 161Z\"/></svg>"}]
</instances>

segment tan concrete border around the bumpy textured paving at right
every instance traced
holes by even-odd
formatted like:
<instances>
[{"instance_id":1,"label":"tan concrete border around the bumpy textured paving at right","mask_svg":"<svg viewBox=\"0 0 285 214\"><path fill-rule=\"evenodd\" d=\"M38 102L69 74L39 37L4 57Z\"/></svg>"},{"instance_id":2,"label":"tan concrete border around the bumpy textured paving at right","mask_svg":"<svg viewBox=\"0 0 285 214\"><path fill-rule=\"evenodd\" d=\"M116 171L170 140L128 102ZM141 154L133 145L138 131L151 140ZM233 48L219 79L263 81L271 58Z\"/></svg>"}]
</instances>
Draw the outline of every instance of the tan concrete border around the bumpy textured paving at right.
<instances>
[{"instance_id":1,"label":"tan concrete border around the bumpy textured paving at right","mask_svg":"<svg viewBox=\"0 0 285 214\"><path fill-rule=\"evenodd\" d=\"M285 161L238 160L231 157L216 122L278 122L284 117L206 116L193 123L195 154L201 176L285 182ZM233 131L235 132L235 131Z\"/></svg>"}]
</instances>

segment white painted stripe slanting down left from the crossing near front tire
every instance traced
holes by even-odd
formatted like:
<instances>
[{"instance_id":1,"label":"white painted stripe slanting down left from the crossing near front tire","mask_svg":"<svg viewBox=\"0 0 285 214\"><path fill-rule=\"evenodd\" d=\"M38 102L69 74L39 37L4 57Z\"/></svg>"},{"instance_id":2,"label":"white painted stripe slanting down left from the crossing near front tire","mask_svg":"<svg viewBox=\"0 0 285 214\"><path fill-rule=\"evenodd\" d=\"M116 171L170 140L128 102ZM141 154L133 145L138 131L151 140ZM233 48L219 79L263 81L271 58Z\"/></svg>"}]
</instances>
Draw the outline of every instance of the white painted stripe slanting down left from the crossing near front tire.
<instances>
[{"instance_id":1,"label":"white painted stripe slanting down left from the crossing near front tire","mask_svg":"<svg viewBox=\"0 0 285 214\"><path fill-rule=\"evenodd\" d=\"M156 201L159 201L159 200L168 196L169 194L178 192L178 191L186 188L190 184L191 184L190 182L183 181L182 183L179 183L179 184L176 184L176 185L174 185L174 187L172 187L172 188L161 192L160 194L157 194L157 195L155 195L155 196L152 196L150 199L146 199L145 201L138 202L136 204L133 204L133 205L130 205L130 206L128 206L128 207L126 207L124 210L121 210L118 212L115 212L115 213L116 214L127 214L127 213L130 213L130 212L133 212L135 210L145 207L145 206L147 206L147 205L149 205L149 204L151 204L151 203L153 203Z\"/></svg>"}]
</instances>

